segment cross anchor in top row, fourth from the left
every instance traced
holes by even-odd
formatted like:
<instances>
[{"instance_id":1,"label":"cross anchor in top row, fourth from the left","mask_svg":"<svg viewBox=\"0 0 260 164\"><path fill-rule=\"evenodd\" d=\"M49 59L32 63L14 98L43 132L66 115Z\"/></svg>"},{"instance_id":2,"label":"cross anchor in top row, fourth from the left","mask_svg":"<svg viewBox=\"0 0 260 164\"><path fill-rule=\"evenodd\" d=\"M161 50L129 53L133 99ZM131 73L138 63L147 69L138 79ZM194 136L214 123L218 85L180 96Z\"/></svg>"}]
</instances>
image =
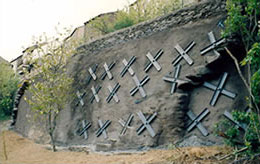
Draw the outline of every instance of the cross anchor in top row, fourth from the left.
<instances>
[{"instance_id":1,"label":"cross anchor in top row, fourth from the left","mask_svg":"<svg viewBox=\"0 0 260 164\"><path fill-rule=\"evenodd\" d=\"M156 68L156 70L159 72L159 71L162 69L162 67L161 67L160 64L157 62L157 60L160 58L160 56L161 56L162 54L163 54L163 50L162 50L162 49L160 49L160 50L156 53L155 57L153 57L152 54L151 54L150 52L148 52L148 53L146 54L146 57L149 59L149 62L145 65L144 71L145 71L145 72L148 72L148 71L150 70L150 68L151 68L152 66L154 66L154 67Z\"/></svg>"}]
</instances>

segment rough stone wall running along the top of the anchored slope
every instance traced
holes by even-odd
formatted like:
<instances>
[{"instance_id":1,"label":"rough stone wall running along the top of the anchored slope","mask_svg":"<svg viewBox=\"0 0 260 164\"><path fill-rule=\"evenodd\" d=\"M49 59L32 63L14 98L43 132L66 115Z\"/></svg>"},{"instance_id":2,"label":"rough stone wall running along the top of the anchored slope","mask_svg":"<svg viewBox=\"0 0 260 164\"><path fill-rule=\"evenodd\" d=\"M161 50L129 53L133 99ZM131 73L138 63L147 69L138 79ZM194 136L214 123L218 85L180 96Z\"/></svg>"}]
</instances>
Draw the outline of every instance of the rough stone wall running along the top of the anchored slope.
<instances>
[{"instance_id":1,"label":"rough stone wall running along the top of the anchored slope","mask_svg":"<svg viewBox=\"0 0 260 164\"><path fill-rule=\"evenodd\" d=\"M97 53L104 48L112 47L130 40L147 37L201 19L222 15L226 12L225 7L226 5L224 0L203 1L194 6L174 11L166 16L143 22L127 29L122 29L101 38L97 38L90 43L80 46L78 50L85 51L85 53Z\"/></svg>"}]
</instances>

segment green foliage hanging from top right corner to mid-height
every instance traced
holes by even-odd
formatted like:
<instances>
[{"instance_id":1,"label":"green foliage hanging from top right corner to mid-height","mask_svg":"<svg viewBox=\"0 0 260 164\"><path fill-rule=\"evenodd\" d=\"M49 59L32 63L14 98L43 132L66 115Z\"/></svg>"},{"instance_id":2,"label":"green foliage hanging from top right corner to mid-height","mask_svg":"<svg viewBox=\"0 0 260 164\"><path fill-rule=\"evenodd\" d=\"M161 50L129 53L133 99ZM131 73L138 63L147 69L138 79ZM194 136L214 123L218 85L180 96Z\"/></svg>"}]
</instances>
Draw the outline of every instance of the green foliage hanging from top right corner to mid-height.
<instances>
[{"instance_id":1,"label":"green foliage hanging from top right corner to mid-height","mask_svg":"<svg viewBox=\"0 0 260 164\"><path fill-rule=\"evenodd\" d=\"M223 31L224 37L236 35L241 38L247 52L241 62L244 66L250 66L248 81L250 93L254 96L253 101L259 105L260 95L260 1L259 0L227 0L228 17L225 21L226 28ZM252 79L251 79L252 77Z\"/></svg>"}]
</instances>

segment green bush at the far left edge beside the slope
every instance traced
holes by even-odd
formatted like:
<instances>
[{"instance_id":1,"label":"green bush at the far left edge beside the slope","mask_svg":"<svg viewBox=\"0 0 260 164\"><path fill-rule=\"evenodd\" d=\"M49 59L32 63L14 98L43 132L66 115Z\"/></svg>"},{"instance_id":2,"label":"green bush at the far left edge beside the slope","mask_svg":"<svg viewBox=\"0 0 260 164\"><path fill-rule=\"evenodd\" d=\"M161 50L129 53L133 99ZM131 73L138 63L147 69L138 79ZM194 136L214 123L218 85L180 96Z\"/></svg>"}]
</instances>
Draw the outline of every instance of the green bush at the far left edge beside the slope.
<instances>
[{"instance_id":1,"label":"green bush at the far left edge beside the slope","mask_svg":"<svg viewBox=\"0 0 260 164\"><path fill-rule=\"evenodd\" d=\"M17 88L18 78L11 66L7 63L0 63L0 119L12 114Z\"/></svg>"}]
</instances>

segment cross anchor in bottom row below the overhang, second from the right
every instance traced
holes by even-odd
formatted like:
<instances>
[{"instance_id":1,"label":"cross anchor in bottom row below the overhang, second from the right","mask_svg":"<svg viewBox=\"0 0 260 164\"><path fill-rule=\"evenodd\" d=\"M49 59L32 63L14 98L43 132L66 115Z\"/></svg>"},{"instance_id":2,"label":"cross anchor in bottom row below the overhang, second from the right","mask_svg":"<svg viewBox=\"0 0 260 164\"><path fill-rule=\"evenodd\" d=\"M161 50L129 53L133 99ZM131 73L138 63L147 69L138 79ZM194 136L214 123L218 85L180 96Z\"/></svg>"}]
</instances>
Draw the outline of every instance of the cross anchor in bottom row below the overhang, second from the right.
<instances>
[{"instance_id":1,"label":"cross anchor in bottom row below the overhang, second from the right","mask_svg":"<svg viewBox=\"0 0 260 164\"><path fill-rule=\"evenodd\" d=\"M187 112L188 117L191 119L191 123L188 125L188 132L191 131L195 126L200 130L200 132L207 136L209 133L204 128L204 126L200 123L200 121L205 118L209 114L209 110L205 108L198 116L195 116L195 114L190 110Z\"/></svg>"}]
</instances>

